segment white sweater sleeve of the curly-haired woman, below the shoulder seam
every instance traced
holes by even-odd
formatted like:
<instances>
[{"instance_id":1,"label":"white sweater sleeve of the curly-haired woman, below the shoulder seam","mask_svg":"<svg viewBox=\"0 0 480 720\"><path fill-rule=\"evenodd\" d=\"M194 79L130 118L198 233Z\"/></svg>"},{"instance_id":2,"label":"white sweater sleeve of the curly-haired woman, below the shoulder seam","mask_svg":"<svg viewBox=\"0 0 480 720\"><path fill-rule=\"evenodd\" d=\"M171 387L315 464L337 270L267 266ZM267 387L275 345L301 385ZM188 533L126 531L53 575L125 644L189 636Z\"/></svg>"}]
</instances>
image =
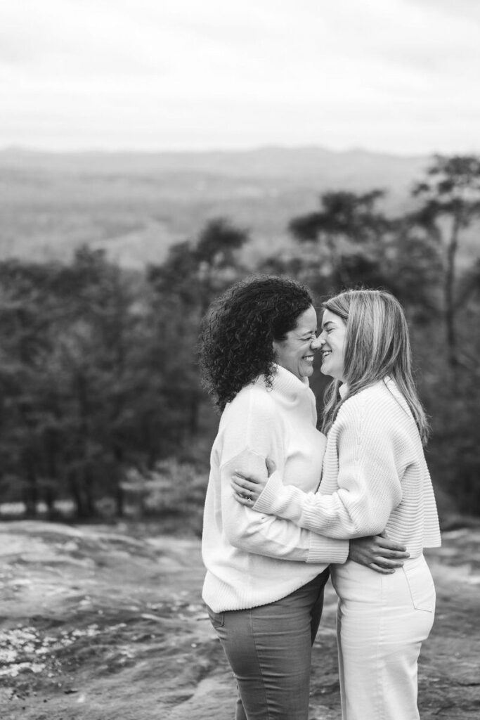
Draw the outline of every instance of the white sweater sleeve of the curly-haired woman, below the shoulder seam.
<instances>
[{"instance_id":1,"label":"white sweater sleeve of the curly-haired woman, below the shoulder seam","mask_svg":"<svg viewBox=\"0 0 480 720\"><path fill-rule=\"evenodd\" d=\"M244 449L220 467L223 531L230 544L253 554L298 562L343 563L348 541L333 540L289 520L261 515L237 503L230 481L234 472L266 474L265 455Z\"/></svg>"}]
</instances>

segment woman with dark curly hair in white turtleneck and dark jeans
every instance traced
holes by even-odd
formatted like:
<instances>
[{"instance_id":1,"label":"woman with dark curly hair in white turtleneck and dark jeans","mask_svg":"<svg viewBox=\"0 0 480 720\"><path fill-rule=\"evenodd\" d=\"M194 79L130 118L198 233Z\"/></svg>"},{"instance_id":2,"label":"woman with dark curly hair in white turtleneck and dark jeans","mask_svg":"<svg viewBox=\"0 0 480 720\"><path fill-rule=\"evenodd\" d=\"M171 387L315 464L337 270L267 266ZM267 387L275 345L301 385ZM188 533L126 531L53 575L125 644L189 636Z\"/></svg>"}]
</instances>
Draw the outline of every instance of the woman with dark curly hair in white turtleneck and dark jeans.
<instances>
[{"instance_id":1,"label":"woman with dark curly hair in white turtleneck and dark jeans","mask_svg":"<svg viewBox=\"0 0 480 720\"><path fill-rule=\"evenodd\" d=\"M316 331L307 288L275 276L235 284L201 330L204 380L222 410L204 510L203 598L237 681L237 720L307 720L330 562L355 557L389 573L406 557L388 539L349 546L235 502L233 473L266 477L267 456L286 485L317 490L325 436L308 384Z\"/></svg>"}]
</instances>

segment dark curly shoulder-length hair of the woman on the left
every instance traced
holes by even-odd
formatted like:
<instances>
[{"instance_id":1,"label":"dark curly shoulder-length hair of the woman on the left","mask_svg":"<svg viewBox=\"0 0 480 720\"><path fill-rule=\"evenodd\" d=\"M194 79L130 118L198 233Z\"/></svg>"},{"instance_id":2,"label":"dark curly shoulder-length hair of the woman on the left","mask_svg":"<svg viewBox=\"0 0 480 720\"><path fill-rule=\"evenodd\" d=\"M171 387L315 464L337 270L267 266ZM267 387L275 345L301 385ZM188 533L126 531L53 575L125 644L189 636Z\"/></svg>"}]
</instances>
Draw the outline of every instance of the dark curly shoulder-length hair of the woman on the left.
<instances>
[{"instance_id":1,"label":"dark curly shoulder-length hair of the woman on the left","mask_svg":"<svg viewBox=\"0 0 480 720\"><path fill-rule=\"evenodd\" d=\"M274 275L241 280L212 303L201 322L199 364L220 410L259 375L271 387L273 341L284 340L312 303L307 287Z\"/></svg>"}]
</instances>

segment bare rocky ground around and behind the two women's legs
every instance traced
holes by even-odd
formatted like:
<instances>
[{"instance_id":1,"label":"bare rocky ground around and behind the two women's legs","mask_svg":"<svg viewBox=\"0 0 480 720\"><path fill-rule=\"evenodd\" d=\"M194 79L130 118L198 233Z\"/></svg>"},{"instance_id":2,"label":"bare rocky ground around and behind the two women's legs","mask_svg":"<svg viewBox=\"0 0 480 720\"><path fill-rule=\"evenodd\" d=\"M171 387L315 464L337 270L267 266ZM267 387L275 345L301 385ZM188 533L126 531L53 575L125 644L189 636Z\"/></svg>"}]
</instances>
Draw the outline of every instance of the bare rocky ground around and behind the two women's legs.
<instances>
[{"instance_id":1,"label":"bare rocky ground around and behind the two women's legs","mask_svg":"<svg viewBox=\"0 0 480 720\"><path fill-rule=\"evenodd\" d=\"M438 589L422 720L480 717L480 526L430 552ZM197 539L145 526L0 527L1 720L229 720L235 688L200 600ZM335 594L314 647L312 720L340 720Z\"/></svg>"}]
</instances>

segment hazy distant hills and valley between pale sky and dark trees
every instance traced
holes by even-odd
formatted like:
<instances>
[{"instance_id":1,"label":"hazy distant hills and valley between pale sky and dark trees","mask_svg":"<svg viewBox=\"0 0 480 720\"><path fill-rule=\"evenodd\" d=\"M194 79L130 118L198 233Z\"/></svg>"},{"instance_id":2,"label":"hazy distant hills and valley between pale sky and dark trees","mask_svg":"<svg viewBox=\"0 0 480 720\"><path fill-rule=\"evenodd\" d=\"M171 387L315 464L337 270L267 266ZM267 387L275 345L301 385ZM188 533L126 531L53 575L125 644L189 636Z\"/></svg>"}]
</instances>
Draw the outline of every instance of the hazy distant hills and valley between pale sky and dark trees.
<instances>
[{"instance_id":1,"label":"hazy distant hills and valley between pale sky and dark trees","mask_svg":"<svg viewBox=\"0 0 480 720\"><path fill-rule=\"evenodd\" d=\"M331 189L387 192L402 212L427 156L321 147L198 152L0 150L0 258L68 260L83 243L115 261L163 261L172 243L228 217L274 250L294 215Z\"/></svg>"}]
</instances>

